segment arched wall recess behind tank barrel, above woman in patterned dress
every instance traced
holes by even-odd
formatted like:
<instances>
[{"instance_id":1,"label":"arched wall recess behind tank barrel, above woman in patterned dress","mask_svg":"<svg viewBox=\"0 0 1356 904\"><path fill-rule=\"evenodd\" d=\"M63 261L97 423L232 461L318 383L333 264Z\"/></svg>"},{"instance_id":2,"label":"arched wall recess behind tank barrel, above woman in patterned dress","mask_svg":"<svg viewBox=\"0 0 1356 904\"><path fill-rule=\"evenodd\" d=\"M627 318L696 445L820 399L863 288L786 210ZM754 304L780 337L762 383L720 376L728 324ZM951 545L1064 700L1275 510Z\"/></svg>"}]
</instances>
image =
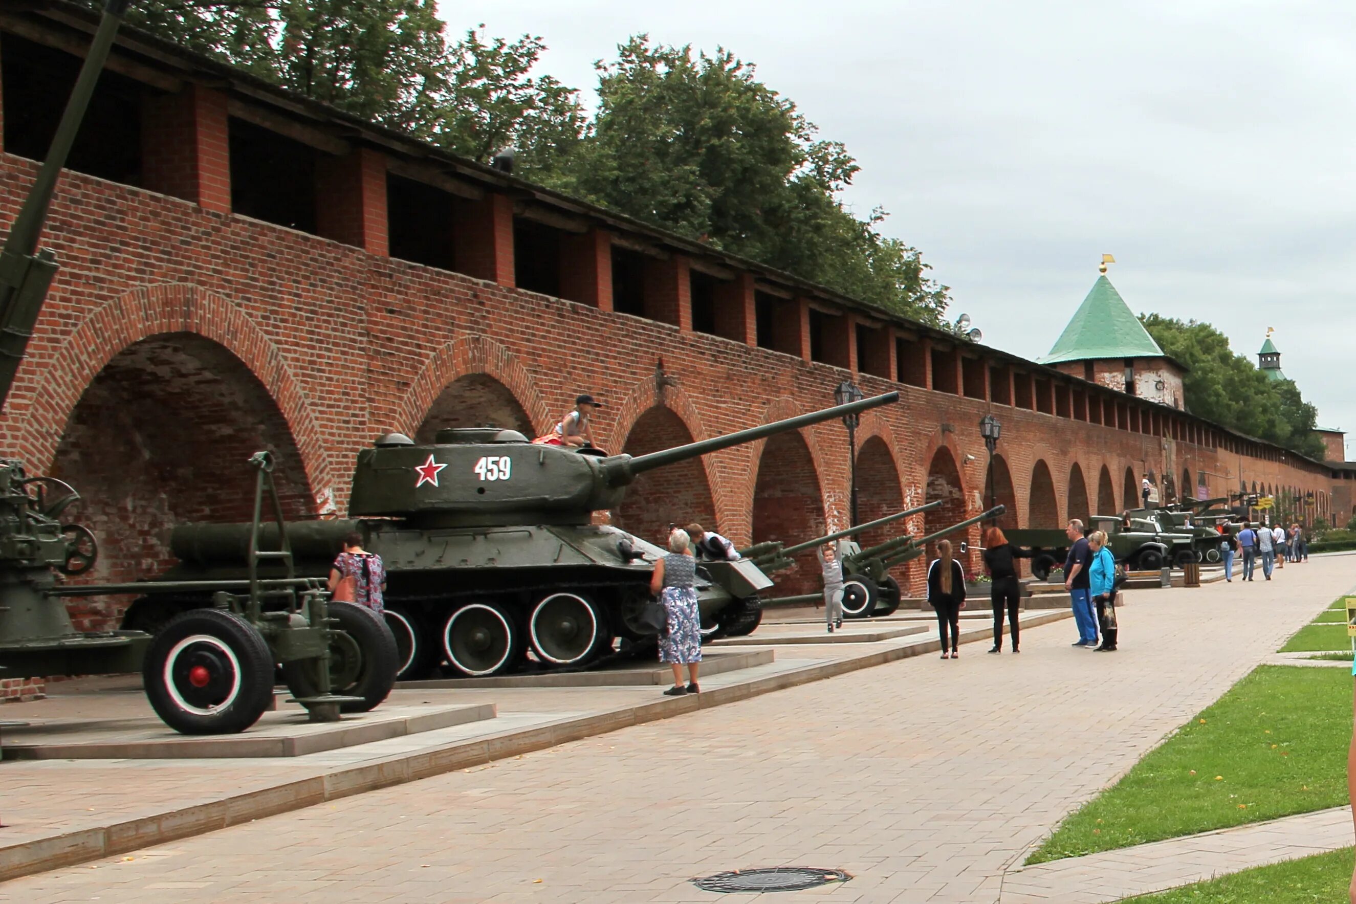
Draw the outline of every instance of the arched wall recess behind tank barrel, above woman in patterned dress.
<instances>
[{"instance_id":1,"label":"arched wall recess behind tank barrel, above woman in patterned dress","mask_svg":"<svg viewBox=\"0 0 1356 904\"><path fill-rule=\"evenodd\" d=\"M655 407L636 420L621 451L644 455L692 440L692 432L678 415L669 408ZM626 489L626 497L613 512L616 526L664 549L669 525L692 522L721 533L716 523L716 504L706 482L706 470L700 458L645 472Z\"/></svg>"}]
</instances>

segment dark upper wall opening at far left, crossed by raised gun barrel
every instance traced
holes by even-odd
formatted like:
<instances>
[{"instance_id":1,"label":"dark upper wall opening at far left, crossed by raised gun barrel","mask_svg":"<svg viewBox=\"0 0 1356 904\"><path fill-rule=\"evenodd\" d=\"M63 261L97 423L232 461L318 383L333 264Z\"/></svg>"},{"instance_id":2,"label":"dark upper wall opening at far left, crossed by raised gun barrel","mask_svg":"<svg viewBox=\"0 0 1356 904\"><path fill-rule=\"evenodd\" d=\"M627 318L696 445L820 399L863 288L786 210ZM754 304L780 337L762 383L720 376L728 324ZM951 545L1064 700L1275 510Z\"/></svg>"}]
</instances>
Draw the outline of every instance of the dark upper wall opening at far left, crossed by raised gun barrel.
<instances>
[{"instance_id":1,"label":"dark upper wall opening at far left, crossed by raised gun barrel","mask_svg":"<svg viewBox=\"0 0 1356 904\"><path fill-rule=\"evenodd\" d=\"M42 160L75 88L83 58L15 34L0 37L5 153ZM66 168L141 184L141 104L151 89L103 70Z\"/></svg>"}]
</instances>

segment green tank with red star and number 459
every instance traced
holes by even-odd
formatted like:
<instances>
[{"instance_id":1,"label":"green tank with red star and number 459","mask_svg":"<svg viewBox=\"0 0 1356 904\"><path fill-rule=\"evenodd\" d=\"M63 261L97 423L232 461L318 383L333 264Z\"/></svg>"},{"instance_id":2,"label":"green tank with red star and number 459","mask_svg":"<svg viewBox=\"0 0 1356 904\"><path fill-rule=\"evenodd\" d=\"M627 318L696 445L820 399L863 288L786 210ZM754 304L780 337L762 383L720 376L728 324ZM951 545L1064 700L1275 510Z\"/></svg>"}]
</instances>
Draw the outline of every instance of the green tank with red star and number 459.
<instances>
[{"instance_id":1,"label":"green tank with red star and number 459","mask_svg":"<svg viewBox=\"0 0 1356 904\"><path fill-rule=\"evenodd\" d=\"M648 470L898 397L887 393L639 457L536 445L494 427L442 430L433 445L389 434L358 454L350 518L287 525L287 541L300 576L328 573L351 531L382 557L401 678L424 676L442 663L468 678L510 672L529 659L540 668L586 668L654 640L639 615L654 561L666 552L594 523L594 512L620 506L626 487ZM248 538L248 525L182 525L170 541L179 564L163 580L239 580ZM260 542L277 545L278 538L264 530ZM762 618L758 594L770 585L754 561L702 562L704 621L751 632ZM148 596L133 603L123 626L153 628L203 602L202 594Z\"/></svg>"}]
</instances>

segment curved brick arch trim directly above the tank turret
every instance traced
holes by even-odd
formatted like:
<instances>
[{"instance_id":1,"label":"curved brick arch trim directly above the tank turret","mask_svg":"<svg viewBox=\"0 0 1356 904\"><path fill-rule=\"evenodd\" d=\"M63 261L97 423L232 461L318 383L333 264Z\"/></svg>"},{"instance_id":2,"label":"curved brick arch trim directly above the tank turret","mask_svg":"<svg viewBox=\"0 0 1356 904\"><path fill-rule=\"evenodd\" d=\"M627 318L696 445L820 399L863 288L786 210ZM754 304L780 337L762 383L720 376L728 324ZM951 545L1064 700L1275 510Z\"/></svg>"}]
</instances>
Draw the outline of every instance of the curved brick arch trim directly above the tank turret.
<instances>
[{"instance_id":1,"label":"curved brick arch trim directly above the tank turret","mask_svg":"<svg viewBox=\"0 0 1356 904\"><path fill-rule=\"evenodd\" d=\"M532 374L509 348L494 339L468 333L446 343L424 362L404 398L396 405L393 427L412 436L442 390L458 377L472 374L484 374L502 384L522 405L533 431L538 435L551 430L556 417L568 408L563 405L552 415L541 393L537 392Z\"/></svg>"}]
</instances>

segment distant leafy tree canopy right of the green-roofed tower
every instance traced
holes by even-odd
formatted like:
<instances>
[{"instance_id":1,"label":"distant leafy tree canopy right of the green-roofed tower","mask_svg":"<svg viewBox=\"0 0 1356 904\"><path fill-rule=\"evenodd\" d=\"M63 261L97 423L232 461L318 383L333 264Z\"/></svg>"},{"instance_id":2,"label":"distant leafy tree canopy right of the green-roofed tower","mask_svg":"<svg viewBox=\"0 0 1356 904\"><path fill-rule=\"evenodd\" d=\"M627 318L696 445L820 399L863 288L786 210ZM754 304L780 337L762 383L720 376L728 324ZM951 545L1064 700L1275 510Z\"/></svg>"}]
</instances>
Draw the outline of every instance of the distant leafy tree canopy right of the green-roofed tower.
<instances>
[{"instance_id":1,"label":"distant leafy tree canopy right of the green-roofed tower","mask_svg":"<svg viewBox=\"0 0 1356 904\"><path fill-rule=\"evenodd\" d=\"M1323 459L1323 442L1313 432L1318 412L1294 381L1272 379L1246 355L1235 355L1210 324L1159 314L1139 320L1168 355L1191 367L1182 378L1186 411Z\"/></svg>"}]
</instances>

